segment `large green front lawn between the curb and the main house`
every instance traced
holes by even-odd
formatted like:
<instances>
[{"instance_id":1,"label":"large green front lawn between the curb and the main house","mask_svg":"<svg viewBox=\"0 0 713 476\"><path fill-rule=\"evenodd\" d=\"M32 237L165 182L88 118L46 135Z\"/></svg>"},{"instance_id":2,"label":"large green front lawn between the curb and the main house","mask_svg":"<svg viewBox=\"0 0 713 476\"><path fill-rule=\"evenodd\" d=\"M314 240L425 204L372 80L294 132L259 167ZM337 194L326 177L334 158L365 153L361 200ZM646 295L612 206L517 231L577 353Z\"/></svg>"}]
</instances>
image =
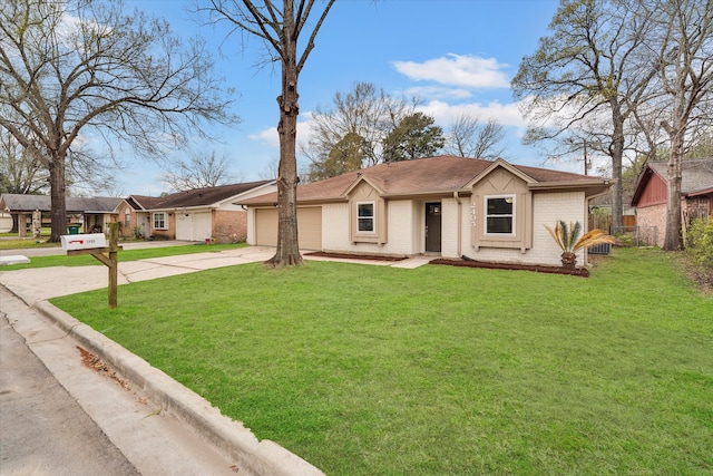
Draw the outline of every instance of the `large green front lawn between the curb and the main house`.
<instances>
[{"instance_id":1,"label":"large green front lawn between the curb and the main house","mask_svg":"<svg viewBox=\"0 0 713 476\"><path fill-rule=\"evenodd\" d=\"M713 299L655 250L589 279L307 262L52 302L329 475L713 474Z\"/></svg>"}]
</instances>

